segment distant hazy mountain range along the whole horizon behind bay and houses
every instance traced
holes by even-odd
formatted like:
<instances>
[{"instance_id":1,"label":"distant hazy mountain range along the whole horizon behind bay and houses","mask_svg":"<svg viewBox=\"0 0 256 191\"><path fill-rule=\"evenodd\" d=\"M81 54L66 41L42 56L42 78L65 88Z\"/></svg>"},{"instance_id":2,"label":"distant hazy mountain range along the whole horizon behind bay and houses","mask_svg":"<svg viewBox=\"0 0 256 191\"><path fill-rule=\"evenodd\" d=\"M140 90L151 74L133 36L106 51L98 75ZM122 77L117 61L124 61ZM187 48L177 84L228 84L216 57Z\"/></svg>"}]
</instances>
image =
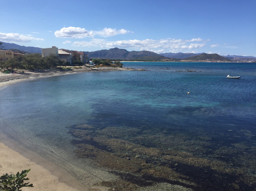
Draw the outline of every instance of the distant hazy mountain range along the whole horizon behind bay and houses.
<instances>
[{"instance_id":1,"label":"distant hazy mountain range along the whole horizon behind bay and houses","mask_svg":"<svg viewBox=\"0 0 256 191\"><path fill-rule=\"evenodd\" d=\"M1 41L0 41L1 42ZM2 42L2 49L16 49L25 51L27 53L41 53L41 48L33 46L20 46L14 43ZM98 50L93 52L83 51L88 54L91 59L115 59L115 60L129 60L129 61L235 61L235 62L256 62L256 57L253 56L238 56L226 55L220 56L218 54L206 53L161 53L157 54L150 51L127 51L125 49L112 48L109 50Z\"/></svg>"}]
</instances>

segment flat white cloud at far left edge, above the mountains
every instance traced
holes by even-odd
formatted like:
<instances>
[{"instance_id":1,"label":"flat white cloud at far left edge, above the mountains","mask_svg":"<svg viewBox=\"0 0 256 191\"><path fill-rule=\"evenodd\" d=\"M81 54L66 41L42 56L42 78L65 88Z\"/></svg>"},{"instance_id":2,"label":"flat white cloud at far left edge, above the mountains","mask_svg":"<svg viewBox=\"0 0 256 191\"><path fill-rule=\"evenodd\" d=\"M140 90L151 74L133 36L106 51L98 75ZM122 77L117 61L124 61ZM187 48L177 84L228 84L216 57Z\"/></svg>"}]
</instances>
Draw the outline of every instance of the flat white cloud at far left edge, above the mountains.
<instances>
[{"instance_id":1,"label":"flat white cloud at far left edge, above the mountains","mask_svg":"<svg viewBox=\"0 0 256 191\"><path fill-rule=\"evenodd\" d=\"M13 42L31 42L31 40L43 41L44 39L32 37L31 34L24 35L19 33L1 33L0 32L0 41L13 43Z\"/></svg>"}]
</instances>

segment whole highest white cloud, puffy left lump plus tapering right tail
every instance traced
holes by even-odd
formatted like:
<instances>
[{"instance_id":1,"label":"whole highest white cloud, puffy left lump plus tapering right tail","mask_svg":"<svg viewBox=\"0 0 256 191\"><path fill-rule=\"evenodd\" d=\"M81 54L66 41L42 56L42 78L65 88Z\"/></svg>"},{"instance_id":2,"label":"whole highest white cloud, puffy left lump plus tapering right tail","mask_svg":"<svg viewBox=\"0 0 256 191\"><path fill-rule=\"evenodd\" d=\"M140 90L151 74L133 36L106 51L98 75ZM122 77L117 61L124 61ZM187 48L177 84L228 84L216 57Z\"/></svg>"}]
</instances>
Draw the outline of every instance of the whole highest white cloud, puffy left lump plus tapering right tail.
<instances>
[{"instance_id":1,"label":"whole highest white cloud, puffy left lump plus tapering right tail","mask_svg":"<svg viewBox=\"0 0 256 191\"><path fill-rule=\"evenodd\" d=\"M104 28L101 31L88 31L80 27L63 27L62 29L55 31L54 35L59 38L82 39L86 37L94 37L95 35L98 35L100 37L112 37L118 34L126 34L128 32L131 31L125 29L116 30L112 28Z\"/></svg>"}]
</instances>

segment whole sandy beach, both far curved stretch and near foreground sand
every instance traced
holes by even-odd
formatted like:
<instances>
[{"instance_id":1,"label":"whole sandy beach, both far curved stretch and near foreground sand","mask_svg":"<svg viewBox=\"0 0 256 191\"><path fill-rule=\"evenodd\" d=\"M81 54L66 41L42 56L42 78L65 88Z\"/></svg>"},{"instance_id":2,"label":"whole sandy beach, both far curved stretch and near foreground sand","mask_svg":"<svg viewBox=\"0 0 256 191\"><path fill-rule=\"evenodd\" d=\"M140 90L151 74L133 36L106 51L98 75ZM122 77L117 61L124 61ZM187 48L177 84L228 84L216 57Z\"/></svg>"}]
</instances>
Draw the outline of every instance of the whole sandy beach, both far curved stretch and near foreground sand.
<instances>
[{"instance_id":1,"label":"whole sandy beach, both far curved stretch and near foreground sand","mask_svg":"<svg viewBox=\"0 0 256 191\"><path fill-rule=\"evenodd\" d=\"M81 72L97 72L97 71L113 71L113 70L130 70L127 68L113 68L113 67L100 67L98 70L93 70L88 67L82 66L73 70L65 70L60 68L51 68L39 70L38 72L29 70L18 70L16 74L4 74L0 71L0 90L9 86L10 84L30 80L34 78L42 78L56 75L65 75ZM3 174L16 174L22 170L31 169L27 177L29 182L34 185L33 188L24 187L22 190L88 190L84 188L81 182L69 175L69 173L33 153L17 142L7 138L0 132L0 175Z\"/></svg>"}]
</instances>

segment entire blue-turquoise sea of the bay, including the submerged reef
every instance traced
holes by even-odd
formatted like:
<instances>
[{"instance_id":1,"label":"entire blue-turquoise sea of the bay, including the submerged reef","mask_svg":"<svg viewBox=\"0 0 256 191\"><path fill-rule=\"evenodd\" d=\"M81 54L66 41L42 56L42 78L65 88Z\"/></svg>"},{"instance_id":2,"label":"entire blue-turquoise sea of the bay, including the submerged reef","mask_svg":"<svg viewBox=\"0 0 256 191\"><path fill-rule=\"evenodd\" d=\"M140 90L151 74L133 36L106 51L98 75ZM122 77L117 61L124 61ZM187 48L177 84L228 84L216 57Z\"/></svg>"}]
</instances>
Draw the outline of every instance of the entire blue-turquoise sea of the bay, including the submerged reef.
<instances>
[{"instance_id":1,"label":"entire blue-turquoise sea of the bay, including the submerged reef","mask_svg":"<svg viewBox=\"0 0 256 191\"><path fill-rule=\"evenodd\" d=\"M255 63L123 66L1 89L0 131L91 190L256 189Z\"/></svg>"}]
</instances>

